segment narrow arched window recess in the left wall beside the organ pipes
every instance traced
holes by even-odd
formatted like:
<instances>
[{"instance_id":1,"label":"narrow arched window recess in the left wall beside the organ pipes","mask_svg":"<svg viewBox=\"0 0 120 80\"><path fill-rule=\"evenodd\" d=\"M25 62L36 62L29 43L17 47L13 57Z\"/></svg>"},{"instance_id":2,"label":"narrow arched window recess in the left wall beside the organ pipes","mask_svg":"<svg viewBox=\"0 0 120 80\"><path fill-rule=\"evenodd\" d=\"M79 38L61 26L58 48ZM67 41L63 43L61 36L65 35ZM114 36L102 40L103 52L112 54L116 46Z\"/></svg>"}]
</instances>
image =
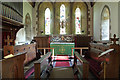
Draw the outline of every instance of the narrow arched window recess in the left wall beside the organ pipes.
<instances>
[{"instance_id":1,"label":"narrow arched window recess in the left wall beside the organ pipes","mask_svg":"<svg viewBox=\"0 0 120 80\"><path fill-rule=\"evenodd\" d=\"M27 13L25 16L25 35L26 35L26 41L30 42L32 40L32 34L31 34L31 18L30 14Z\"/></svg>"}]
</instances>

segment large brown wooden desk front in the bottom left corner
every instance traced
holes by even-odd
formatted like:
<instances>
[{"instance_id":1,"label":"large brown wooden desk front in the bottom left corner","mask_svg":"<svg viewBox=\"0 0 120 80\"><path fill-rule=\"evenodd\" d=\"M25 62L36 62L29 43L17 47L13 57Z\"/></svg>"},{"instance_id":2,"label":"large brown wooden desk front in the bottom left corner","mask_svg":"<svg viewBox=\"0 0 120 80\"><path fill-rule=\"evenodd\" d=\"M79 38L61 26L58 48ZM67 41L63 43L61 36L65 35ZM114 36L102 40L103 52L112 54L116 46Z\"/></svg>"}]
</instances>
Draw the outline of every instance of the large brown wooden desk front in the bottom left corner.
<instances>
[{"instance_id":1,"label":"large brown wooden desk front in the bottom left corner","mask_svg":"<svg viewBox=\"0 0 120 80\"><path fill-rule=\"evenodd\" d=\"M26 53L18 53L12 57L0 60L2 79L24 79L24 60Z\"/></svg>"}]
</instances>

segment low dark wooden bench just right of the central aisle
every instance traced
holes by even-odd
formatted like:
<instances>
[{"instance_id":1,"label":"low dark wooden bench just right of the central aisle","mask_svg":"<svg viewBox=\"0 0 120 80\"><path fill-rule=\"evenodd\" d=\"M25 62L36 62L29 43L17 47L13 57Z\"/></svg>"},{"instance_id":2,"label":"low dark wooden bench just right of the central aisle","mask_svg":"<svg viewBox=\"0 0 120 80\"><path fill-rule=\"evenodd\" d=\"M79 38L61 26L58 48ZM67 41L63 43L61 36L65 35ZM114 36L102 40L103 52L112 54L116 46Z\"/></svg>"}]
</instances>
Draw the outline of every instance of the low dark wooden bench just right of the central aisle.
<instances>
[{"instance_id":1,"label":"low dark wooden bench just right of the central aisle","mask_svg":"<svg viewBox=\"0 0 120 80\"><path fill-rule=\"evenodd\" d=\"M77 65L77 59L82 65ZM77 74L78 78L87 79L89 74L89 63L84 59L78 52L74 53L74 65L73 65L75 75ZM79 77L80 76L80 77Z\"/></svg>"}]
</instances>

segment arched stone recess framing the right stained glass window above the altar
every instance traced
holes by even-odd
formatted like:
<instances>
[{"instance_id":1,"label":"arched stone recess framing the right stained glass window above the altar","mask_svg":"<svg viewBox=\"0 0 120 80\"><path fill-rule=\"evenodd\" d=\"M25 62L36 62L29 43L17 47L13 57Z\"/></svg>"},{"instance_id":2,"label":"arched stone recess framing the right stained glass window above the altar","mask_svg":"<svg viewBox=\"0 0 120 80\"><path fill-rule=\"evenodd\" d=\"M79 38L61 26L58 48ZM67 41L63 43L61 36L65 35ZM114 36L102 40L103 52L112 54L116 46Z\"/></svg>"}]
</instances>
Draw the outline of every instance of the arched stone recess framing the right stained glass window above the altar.
<instances>
[{"instance_id":1,"label":"arched stone recess framing the right stained glass window above the altar","mask_svg":"<svg viewBox=\"0 0 120 80\"><path fill-rule=\"evenodd\" d=\"M87 5L84 2L75 2L72 7L72 34L76 34L76 24L75 24L75 13L76 9L80 9L80 18L81 18L81 34L87 34L87 26L88 26L88 21L87 21Z\"/></svg>"}]
</instances>

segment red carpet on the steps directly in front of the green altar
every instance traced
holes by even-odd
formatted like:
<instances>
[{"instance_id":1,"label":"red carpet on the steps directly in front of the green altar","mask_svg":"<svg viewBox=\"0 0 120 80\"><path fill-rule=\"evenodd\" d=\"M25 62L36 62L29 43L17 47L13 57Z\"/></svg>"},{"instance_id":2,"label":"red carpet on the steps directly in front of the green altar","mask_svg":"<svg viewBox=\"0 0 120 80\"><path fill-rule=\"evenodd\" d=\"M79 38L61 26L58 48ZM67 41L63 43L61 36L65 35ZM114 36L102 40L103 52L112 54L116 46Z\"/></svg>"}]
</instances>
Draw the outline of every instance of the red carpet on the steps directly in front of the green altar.
<instances>
[{"instance_id":1,"label":"red carpet on the steps directly in front of the green altar","mask_svg":"<svg viewBox=\"0 0 120 80\"><path fill-rule=\"evenodd\" d=\"M57 56L56 60L69 60L68 56ZM55 67L70 67L69 61L56 61Z\"/></svg>"}]
</instances>

